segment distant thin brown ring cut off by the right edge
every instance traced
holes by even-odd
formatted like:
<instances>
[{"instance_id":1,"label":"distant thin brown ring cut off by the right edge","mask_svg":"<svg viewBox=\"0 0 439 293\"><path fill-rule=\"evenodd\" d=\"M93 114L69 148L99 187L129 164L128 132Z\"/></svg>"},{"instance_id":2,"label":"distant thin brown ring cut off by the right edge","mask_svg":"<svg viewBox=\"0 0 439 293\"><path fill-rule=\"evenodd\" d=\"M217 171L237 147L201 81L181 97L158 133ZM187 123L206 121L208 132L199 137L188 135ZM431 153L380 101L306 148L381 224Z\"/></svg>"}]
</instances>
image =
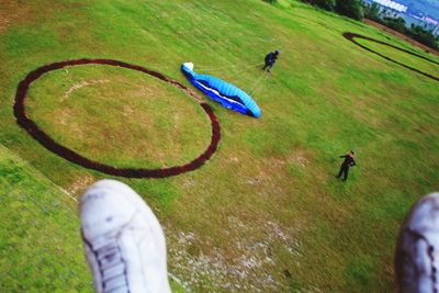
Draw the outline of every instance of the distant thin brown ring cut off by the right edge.
<instances>
[{"instance_id":1,"label":"distant thin brown ring cut off by the right edge","mask_svg":"<svg viewBox=\"0 0 439 293\"><path fill-rule=\"evenodd\" d=\"M434 79L434 80L436 80L436 81L439 81L439 77L435 77L435 76L432 76L432 75L430 75L430 74L424 72L424 71L421 71L421 70L419 70L419 69L416 69L416 68L414 68L414 67L410 67L410 66L408 66L408 65L405 65L405 64L403 64L403 63L399 63L399 61L397 61L397 60L395 60L395 59L392 59L391 57L387 57L387 56L385 56L385 55L383 55L383 54L381 54L381 53L379 53L379 52L376 52L376 50L373 50L373 49L371 49L371 48L368 48L367 46L361 45L360 43L356 42L354 38L363 38L363 40L368 40L368 41L371 41L371 42L375 42L375 43L378 43L378 44L382 44L382 45L385 45L385 46L387 46L387 47L392 47L392 48L394 48L394 49L397 49L397 50L407 53L407 54L409 54L409 55L412 55L412 56L416 56L416 57L421 58L421 59L424 59L424 60L427 60L427 61L429 61L429 63L439 65L439 63L437 63L437 61L435 61L435 60L431 60L431 59L429 59L429 58L426 58L426 57L424 57L424 56L421 56L421 55L418 55L418 54L416 54L416 53L413 53L413 52L410 52L410 50L408 50L408 49L399 48L399 47L396 47L396 46L394 46L394 45L392 45L392 44L387 44L387 43L385 43L385 42L382 42L382 41L379 41L379 40L375 40L375 38L372 38L372 37L369 37L369 36L363 36L363 35L356 34L356 33L344 33L342 35L344 35L344 37L346 37L347 40L349 40L350 42L352 42L352 43L356 44L357 46L362 47L363 49L367 49L367 50L369 50L370 53L373 53L373 54L375 54L375 55L378 55L378 56L380 56L380 57L382 57L382 58L384 58L384 59L386 59L386 60L390 60L390 61L395 63L395 64L397 64L397 65L401 65L401 66L403 66L403 67L405 67L405 68L407 68L407 69L409 69L409 70L413 70L413 71L418 72L418 74L420 74L420 75L423 75L423 76L426 76L426 77L431 78L431 79Z\"/></svg>"}]
</instances>

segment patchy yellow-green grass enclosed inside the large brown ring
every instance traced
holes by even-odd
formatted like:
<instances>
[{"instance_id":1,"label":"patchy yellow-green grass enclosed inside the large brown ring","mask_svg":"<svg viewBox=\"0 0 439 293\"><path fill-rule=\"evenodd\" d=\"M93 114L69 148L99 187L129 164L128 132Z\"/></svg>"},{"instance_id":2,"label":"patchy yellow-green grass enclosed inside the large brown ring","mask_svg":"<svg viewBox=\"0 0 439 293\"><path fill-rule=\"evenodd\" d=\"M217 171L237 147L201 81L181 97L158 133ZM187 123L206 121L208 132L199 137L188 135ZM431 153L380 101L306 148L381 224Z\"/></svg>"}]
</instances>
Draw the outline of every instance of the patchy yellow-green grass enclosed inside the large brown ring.
<instances>
[{"instance_id":1,"label":"patchy yellow-green grass enclosed inside the large brown ring","mask_svg":"<svg viewBox=\"0 0 439 293\"><path fill-rule=\"evenodd\" d=\"M194 99L170 83L110 66L43 76L32 84L26 109L59 144L121 168L183 165L211 140L210 120Z\"/></svg>"}]
</instances>

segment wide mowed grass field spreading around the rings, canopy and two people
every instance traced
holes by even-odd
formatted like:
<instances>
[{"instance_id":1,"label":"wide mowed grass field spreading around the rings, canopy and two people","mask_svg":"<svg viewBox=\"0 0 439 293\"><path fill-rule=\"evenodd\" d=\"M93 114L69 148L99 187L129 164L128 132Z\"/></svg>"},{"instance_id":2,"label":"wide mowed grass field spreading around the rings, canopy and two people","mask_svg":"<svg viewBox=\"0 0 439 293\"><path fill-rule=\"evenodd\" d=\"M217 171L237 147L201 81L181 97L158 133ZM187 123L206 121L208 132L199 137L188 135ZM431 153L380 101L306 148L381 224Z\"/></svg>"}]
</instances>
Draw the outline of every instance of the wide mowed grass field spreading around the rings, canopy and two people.
<instances>
[{"instance_id":1,"label":"wide mowed grass field spreading around the rings, canopy and two people","mask_svg":"<svg viewBox=\"0 0 439 293\"><path fill-rule=\"evenodd\" d=\"M29 71L58 60L112 58L192 87L180 65L193 61L195 71L204 68L252 93L262 109L259 120L204 98L221 122L222 140L201 169L160 180L119 178L156 211L166 229L169 270L192 291L395 289L399 224L417 199L438 189L439 83L368 53L342 33L409 45L295 1L9 1L0 13L0 143L35 176L77 198L109 176L49 153L18 126L13 98ZM273 72L261 76L251 65L275 48L282 54ZM430 66L379 49L419 69ZM26 109L58 142L120 167L187 162L210 140L209 120L190 97L122 68L49 72L32 84ZM358 166L341 183L335 179L337 156L349 149ZM20 189L3 181L2 188ZM42 264L27 250L9 253L24 239L25 225L12 216L13 204L0 206L1 238L14 237L0 250L2 271L23 267L2 283L5 290L90 290L80 251L68 255L75 274L64 282L57 258ZM53 237L64 228L67 240L35 241L35 251L42 245L49 251L78 248L71 234L77 222L60 213L50 223L41 234ZM16 262L22 256L31 261ZM41 275L30 277L26 266L42 268Z\"/></svg>"}]
</instances>

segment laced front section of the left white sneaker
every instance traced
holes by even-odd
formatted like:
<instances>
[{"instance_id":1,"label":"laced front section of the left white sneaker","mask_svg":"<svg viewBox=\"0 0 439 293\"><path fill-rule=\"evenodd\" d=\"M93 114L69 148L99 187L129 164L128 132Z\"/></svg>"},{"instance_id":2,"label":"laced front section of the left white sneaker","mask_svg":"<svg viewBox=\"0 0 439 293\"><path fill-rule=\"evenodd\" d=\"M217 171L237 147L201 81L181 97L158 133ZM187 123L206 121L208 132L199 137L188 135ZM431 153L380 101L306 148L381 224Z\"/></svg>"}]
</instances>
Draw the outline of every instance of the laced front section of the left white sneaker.
<instances>
[{"instance_id":1,"label":"laced front section of the left white sneaker","mask_svg":"<svg viewBox=\"0 0 439 293\"><path fill-rule=\"evenodd\" d=\"M126 263L116 240L105 244L93 252L102 275L103 292L130 292Z\"/></svg>"}]
</instances>

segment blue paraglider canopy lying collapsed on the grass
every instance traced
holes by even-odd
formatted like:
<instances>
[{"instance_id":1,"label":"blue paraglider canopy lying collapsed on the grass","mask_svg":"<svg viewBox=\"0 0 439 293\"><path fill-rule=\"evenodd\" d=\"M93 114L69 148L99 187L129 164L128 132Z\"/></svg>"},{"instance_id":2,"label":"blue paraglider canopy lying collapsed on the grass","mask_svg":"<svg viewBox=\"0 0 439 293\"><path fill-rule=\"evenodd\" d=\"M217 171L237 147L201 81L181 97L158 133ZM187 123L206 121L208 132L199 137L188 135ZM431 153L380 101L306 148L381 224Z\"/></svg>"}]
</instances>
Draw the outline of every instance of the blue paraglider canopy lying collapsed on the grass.
<instances>
[{"instance_id":1,"label":"blue paraglider canopy lying collapsed on the grass","mask_svg":"<svg viewBox=\"0 0 439 293\"><path fill-rule=\"evenodd\" d=\"M193 86L214 101L221 103L224 108L254 117L261 115L261 110L251 97L234 84L216 77L194 72L193 64L191 63L183 63L181 70Z\"/></svg>"}]
</instances>

